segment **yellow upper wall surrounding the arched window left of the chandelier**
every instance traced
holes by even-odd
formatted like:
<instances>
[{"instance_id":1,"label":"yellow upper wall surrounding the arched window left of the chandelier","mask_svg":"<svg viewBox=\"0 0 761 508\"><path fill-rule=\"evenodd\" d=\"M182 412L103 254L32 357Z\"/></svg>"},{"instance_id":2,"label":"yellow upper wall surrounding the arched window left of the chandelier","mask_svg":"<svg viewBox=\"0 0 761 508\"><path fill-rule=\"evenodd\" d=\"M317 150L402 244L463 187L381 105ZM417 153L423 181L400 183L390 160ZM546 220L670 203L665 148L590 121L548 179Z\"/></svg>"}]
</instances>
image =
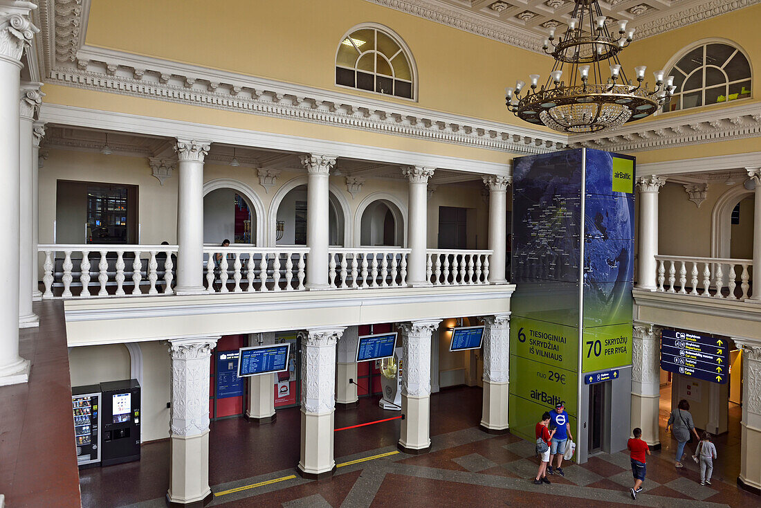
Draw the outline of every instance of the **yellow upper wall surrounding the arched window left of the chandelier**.
<instances>
[{"instance_id":1,"label":"yellow upper wall surrounding the arched window left of the chandelier","mask_svg":"<svg viewBox=\"0 0 761 508\"><path fill-rule=\"evenodd\" d=\"M364 0L228 0L224 7L203 0L93 0L86 42L377 98L335 85L338 44L365 22L390 27L407 43L418 67L418 104L433 110L521 123L505 109L505 86L552 66L548 56Z\"/></svg>"}]
</instances>

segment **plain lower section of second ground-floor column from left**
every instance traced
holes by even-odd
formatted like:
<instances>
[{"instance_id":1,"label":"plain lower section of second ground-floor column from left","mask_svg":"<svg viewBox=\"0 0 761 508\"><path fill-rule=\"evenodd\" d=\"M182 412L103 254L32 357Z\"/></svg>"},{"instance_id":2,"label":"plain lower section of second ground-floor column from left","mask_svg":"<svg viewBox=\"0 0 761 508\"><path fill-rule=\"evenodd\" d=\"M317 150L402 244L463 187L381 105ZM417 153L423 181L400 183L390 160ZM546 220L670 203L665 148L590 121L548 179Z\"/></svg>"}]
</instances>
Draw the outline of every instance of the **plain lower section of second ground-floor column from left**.
<instances>
[{"instance_id":1,"label":"plain lower section of second ground-floor column from left","mask_svg":"<svg viewBox=\"0 0 761 508\"><path fill-rule=\"evenodd\" d=\"M301 409L301 460L298 473L304 478L326 478L336 469L333 460L333 416L330 413L314 414Z\"/></svg>"}]
</instances>

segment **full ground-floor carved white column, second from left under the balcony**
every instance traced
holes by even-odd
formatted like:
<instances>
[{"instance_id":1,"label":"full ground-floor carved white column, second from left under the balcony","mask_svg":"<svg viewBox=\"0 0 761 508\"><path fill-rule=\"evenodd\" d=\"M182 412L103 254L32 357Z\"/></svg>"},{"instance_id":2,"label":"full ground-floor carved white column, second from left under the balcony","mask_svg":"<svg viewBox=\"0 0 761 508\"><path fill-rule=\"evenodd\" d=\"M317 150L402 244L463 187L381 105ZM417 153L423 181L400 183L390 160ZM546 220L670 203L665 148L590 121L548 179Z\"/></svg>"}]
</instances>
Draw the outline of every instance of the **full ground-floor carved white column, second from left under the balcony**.
<instances>
[{"instance_id":1,"label":"full ground-floor carved white column, second from left under the balcony","mask_svg":"<svg viewBox=\"0 0 761 508\"><path fill-rule=\"evenodd\" d=\"M301 460L297 468L304 478L324 478L336 468L336 341L342 333L343 328L315 328L301 337Z\"/></svg>"}]
</instances>

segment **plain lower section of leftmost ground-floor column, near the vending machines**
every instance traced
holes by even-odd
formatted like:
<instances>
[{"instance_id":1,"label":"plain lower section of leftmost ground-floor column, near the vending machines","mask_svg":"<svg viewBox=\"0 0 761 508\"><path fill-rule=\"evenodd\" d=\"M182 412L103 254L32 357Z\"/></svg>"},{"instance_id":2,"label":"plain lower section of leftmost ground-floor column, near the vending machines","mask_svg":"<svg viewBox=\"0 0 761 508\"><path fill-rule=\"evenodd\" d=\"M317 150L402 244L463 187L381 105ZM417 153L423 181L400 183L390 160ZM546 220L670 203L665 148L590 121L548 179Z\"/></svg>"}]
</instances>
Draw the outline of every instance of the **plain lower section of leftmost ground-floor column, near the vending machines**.
<instances>
[{"instance_id":1,"label":"plain lower section of leftmost ground-floor column, near the vending machines","mask_svg":"<svg viewBox=\"0 0 761 508\"><path fill-rule=\"evenodd\" d=\"M206 498L212 495L209 488L209 430L196 436L171 436L171 446L167 503L170 506L203 506Z\"/></svg>"}]
</instances>

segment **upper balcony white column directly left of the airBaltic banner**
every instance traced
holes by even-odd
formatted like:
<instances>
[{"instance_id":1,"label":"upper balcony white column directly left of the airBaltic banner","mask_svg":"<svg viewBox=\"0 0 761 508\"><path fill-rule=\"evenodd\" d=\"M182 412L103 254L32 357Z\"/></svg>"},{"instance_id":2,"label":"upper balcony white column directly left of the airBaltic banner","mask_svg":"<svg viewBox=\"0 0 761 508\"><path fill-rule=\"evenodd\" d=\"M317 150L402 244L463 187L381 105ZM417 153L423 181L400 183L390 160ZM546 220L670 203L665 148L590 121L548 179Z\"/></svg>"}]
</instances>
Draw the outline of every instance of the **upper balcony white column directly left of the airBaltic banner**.
<instances>
[{"instance_id":1,"label":"upper balcony white column directly left of the airBaltic banner","mask_svg":"<svg viewBox=\"0 0 761 508\"><path fill-rule=\"evenodd\" d=\"M489 188L489 250L494 251L489 260L489 283L504 284L505 257L508 249L508 185L512 177L495 175L483 177Z\"/></svg>"}]
</instances>

